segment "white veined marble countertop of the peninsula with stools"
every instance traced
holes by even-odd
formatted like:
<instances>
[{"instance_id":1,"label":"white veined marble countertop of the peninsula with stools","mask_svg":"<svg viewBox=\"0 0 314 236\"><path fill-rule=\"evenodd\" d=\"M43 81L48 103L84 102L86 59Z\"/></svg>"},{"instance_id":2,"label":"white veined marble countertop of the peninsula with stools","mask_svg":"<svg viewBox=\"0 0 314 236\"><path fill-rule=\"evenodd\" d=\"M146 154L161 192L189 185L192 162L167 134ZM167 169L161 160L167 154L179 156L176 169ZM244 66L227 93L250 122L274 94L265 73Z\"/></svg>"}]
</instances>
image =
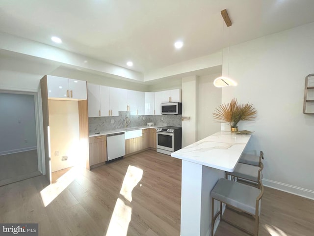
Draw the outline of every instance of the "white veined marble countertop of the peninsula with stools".
<instances>
[{"instance_id":1,"label":"white veined marble countertop of the peninsula with stools","mask_svg":"<svg viewBox=\"0 0 314 236\"><path fill-rule=\"evenodd\" d=\"M172 157L233 172L251 135L219 131L171 154Z\"/></svg>"}]
</instances>

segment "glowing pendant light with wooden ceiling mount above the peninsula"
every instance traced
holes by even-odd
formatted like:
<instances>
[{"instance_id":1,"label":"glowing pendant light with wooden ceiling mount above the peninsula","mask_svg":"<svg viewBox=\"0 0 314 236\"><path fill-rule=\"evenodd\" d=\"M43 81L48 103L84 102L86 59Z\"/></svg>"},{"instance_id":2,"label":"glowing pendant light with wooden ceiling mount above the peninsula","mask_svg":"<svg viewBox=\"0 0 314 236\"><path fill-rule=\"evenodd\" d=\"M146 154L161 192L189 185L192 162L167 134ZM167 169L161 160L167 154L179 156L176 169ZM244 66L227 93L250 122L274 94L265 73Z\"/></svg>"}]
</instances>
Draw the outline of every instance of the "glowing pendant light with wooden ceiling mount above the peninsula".
<instances>
[{"instance_id":1,"label":"glowing pendant light with wooden ceiling mount above the peninsula","mask_svg":"<svg viewBox=\"0 0 314 236\"><path fill-rule=\"evenodd\" d=\"M222 10L221 11L221 15L222 15L222 18L224 19L227 27L230 27L232 25L232 23L231 23L231 20L230 20L230 18L228 16L227 9ZM224 28L222 28L222 32L223 32L223 29ZM230 54L229 54L229 50L230 50L229 35L230 35L230 29L228 28L228 76L229 76L229 58L230 58ZM224 76L216 78L214 80L213 84L217 88L222 88L222 87L226 87L226 86L236 86L237 85L237 83L234 80L230 79L229 77L224 77Z\"/></svg>"}]
</instances>

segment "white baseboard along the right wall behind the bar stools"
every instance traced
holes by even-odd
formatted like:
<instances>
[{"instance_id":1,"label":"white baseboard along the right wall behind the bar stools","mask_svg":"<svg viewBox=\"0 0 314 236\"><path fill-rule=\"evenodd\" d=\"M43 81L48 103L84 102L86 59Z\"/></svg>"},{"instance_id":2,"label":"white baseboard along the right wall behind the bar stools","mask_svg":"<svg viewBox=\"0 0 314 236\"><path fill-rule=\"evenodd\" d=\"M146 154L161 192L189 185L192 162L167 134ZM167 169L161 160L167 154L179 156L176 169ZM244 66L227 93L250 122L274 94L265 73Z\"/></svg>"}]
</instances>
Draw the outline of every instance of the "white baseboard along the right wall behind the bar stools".
<instances>
[{"instance_id":1,"label":"white baseboard along the right wall behind the bar stools","mask_svg":"<svg viewBox=\"0 0 314 236\"><path fill-rule=\"evenodd\" d=\"M305 189L305 188L300 188L300 187L296 187L293 185L289 185L286 183L281 183L281 182L277 182L277 181L273 181L273 180L269 180L269 179L263 179L262 183L264 186L270 187L270 188L274 188L274 189L278 189L287 193L292 193L304 198L309 198L314 200L314 191L313 190L309 190L309 189Z\"/></svg>"}]
</instances>

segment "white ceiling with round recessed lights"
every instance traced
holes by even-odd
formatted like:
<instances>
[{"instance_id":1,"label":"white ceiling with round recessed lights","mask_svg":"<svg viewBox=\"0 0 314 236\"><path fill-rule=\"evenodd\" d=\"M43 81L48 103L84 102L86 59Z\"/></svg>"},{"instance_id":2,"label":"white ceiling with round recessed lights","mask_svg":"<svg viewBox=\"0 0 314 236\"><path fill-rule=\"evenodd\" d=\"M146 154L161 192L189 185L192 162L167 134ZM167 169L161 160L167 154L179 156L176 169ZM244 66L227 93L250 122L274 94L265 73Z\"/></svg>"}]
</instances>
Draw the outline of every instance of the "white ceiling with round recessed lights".
<instances>
[{"instance_id":1,"label":"white ceiling with round recessed lights","mask_svg":"<svg viewBox=\"0 0 314 236\"><path fill-rule=\"evenodd\" d=\"M314 0L1 0L0 31L146 73L314 22L313 10Z\"/></svg>"}]
</instances>

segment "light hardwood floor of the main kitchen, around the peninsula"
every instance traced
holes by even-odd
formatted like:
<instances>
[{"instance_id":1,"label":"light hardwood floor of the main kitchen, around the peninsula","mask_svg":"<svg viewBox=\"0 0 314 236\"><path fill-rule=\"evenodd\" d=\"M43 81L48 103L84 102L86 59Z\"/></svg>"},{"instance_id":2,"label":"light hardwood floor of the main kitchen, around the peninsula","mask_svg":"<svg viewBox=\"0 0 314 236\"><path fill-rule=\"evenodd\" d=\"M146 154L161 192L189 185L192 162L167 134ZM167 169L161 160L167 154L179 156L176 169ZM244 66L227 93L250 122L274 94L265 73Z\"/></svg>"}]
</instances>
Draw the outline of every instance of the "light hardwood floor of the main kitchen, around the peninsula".
<instances>
[{"instance_id":1,"label":"light hardwood floor of the main kitchen, around the peninsula","mask_svg":"<svg viewBox=\"0 0 314 236\"><path fill-rule=\"evenodd\" d=\"M0 223L39 223L41 236L180 235L181 160L148 150L82 170L44 207L46 186L39 176L0 187ZM225 217L251 226L234 214ZM314 201L265 188L260 236L311 236L313 218ZM215 234L245 235L224 222Z\"/></svg>"}]
</instances>

